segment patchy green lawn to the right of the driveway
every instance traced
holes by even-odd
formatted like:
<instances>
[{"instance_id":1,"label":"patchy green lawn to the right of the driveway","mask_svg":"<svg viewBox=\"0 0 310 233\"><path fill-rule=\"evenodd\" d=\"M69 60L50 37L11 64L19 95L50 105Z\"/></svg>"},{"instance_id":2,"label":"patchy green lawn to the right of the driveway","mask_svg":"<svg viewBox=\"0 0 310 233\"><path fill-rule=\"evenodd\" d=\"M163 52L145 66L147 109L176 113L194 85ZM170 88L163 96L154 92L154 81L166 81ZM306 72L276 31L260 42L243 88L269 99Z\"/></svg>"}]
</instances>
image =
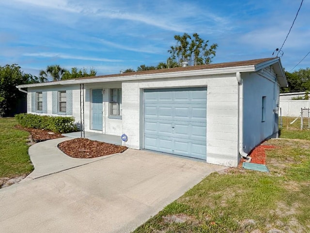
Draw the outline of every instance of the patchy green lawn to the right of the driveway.
<instances>
[{"instance_id":1,"label":"patchy green lawn to the right of the driveway","mask_svg":"<svg viewBox=\"0 0 310 233\"><path fill-rule=\"evenodd\" d=\"M284 135L309 139L295 131L285 129ZM267 143L276 147L266 150L270 173L238 168L212 173L134 233L310 232L310 143Z\"/></svg>"}]
</instances>

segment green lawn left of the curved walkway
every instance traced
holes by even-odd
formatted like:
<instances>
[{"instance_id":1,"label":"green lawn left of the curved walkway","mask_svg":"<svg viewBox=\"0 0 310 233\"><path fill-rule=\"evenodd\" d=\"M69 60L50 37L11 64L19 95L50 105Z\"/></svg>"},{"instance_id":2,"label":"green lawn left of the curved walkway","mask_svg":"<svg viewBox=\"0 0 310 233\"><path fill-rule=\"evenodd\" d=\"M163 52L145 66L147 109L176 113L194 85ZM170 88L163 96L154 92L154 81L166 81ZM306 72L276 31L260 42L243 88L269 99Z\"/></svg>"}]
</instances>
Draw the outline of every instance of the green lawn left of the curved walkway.
<instances>
[{"instance_id":1,"label":"green lawn left of the curved walkway","mask_svg":"<svg viewBox=\"0 0 310 233\"><path fill-rule=\"evenodd\" d=\"M16 124L15 118L0 118L0 179L26 175L33 170L26 144L29 133L15 129Z\"/></svg>"}]
</instances>

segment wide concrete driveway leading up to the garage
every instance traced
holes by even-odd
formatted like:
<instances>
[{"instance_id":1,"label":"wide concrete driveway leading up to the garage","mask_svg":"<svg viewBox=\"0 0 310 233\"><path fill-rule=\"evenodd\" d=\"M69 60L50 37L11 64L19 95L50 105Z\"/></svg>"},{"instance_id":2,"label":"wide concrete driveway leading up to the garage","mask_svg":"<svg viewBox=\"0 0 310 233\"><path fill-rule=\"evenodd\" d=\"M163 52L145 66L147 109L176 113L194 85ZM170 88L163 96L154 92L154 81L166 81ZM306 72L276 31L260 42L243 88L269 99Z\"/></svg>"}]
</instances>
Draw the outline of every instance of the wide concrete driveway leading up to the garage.
<instances>
[{"instance_id":1,"label":"wide concrete driveway leading up to the garage","mask_svg":"<svg viewBox=\"0 0 310 233\"><path fill-rule=\"evenodd\" d=\"M222 166L141 150L0 189L0 232L125 233Z\"/></svg>"}]
</instances>

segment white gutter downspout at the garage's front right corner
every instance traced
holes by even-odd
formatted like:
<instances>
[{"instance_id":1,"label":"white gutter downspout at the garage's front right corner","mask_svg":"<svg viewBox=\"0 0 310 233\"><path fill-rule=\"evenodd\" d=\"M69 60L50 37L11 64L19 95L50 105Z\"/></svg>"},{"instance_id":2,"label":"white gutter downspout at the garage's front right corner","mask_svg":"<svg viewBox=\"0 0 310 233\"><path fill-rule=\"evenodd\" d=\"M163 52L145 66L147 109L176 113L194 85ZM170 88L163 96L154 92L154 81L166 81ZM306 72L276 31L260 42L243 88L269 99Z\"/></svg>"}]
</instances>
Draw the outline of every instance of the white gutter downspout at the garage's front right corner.
<instances>
[{"instance_id":1,"label":"white gutter downspout at the garage's front right corner","mask_svg":"<svg viewBox=\"0 0 310 233\"><path fill-rule=\"evenodd\" d=\"M244 159L249 159L248 154L244 152L245 146L243 146L243 83L240 72L236 72L236 78L238 82L238 124L239 124L239 154Z\"/></svg>"}]
</instances>

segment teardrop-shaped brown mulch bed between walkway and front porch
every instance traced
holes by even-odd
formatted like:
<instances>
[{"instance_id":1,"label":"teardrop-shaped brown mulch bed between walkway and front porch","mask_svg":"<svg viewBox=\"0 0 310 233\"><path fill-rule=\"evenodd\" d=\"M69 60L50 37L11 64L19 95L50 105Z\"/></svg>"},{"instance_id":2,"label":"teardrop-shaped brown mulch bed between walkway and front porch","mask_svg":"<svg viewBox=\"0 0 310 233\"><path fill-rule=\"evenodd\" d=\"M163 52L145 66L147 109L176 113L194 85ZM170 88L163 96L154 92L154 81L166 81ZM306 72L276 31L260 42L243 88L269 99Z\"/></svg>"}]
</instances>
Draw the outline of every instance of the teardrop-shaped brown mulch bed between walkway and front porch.
<instances>
[{"instance_id":1,"label":"teardrop-shaped brown mulch bed between walkway and front porch","mask_svg":"<svg viewBox=\"0 0 310 233\"><path fill-rule=\"evenodd\" d=\"M73 158L96 158L109 154L124 152L127 147L117 146L105 142L75 138L58 144L58 148Z\"/></svg>"}]
</instances>

